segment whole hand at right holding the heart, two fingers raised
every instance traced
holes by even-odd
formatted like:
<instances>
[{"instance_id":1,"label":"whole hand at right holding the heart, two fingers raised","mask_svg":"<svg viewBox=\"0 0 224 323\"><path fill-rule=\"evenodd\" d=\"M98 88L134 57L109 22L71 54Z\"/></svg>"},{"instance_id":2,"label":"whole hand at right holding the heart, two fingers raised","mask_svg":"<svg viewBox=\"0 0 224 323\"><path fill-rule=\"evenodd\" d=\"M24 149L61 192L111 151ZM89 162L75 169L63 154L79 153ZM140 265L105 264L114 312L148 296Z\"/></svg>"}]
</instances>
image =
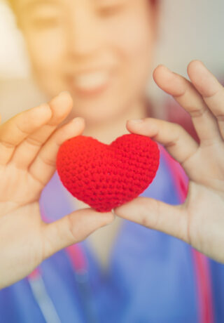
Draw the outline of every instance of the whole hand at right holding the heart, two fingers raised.
<instances>
[{"instance_id":1,"label":"whole hand at right holding the heart, two fingers raised","mask_svg":"<svg viewBox=\"0 0 224 323\"><path fill-rule=\"evenodd\" d=\"M118 216L160 230L224 263L224 88L199 60L188 65L190 81L159 65L156 84L192 117L200 144L179 125L158 119L127 122L132 133L164 145L186 171L188 196L179 206L138 197L115 209Z\"/></svg>"}]
</instances>

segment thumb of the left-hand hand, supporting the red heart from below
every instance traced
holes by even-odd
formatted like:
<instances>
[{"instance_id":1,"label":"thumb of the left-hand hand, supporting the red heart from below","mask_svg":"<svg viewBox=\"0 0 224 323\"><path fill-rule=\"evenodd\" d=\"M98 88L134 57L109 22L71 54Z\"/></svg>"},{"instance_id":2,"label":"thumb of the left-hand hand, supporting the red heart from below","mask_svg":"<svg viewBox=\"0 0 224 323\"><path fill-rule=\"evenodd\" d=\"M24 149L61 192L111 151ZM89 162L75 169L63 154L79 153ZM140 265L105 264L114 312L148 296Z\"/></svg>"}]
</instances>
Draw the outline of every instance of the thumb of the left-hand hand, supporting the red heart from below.
<instances>
[{"instance_id":1,"label":"thumb of the left-hand hand, supporting the red heart from below","mask_svg":"<svg viewBox=\"0 0 224 323\"><path fill-rule=\"evenodd\" d=\"M112 212L100 213L82 209L43 226L43 259L53 253L87 238L95 230L112 223Z\"/></svg>"}]
</instances>

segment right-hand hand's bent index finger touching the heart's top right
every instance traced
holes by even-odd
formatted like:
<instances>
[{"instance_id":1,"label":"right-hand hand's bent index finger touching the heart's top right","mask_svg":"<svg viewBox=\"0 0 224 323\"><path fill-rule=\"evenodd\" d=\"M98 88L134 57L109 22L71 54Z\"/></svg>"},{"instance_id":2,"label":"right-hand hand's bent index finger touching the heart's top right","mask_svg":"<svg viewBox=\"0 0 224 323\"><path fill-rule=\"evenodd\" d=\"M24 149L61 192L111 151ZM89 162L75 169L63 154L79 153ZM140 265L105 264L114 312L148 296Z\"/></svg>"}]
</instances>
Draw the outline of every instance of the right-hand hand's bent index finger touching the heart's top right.
<instances>
[{"instance_id":1,"label":"right-hand hand's bent index finger touching the heart's top right","mask_svg":"<svg viewBox=\"0 0 224 323\"><path fill-rule=\"evenodd\" d=\"M188 167L188 162L199 145L179 124L154 118L146 118L141 122L128 120L127 130L151 137L164 145L172 157L182 164L188 175L190 174L191 167Z\"/></svg>"}]
</instances>

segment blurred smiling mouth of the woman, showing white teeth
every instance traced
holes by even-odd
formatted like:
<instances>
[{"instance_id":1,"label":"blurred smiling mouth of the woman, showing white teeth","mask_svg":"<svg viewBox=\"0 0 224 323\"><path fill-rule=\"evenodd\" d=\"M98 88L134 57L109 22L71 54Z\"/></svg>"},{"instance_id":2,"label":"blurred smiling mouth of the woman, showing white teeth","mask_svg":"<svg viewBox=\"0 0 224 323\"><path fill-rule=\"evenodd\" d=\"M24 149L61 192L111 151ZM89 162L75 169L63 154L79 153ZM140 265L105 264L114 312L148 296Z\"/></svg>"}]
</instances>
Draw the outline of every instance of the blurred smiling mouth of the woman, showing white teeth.
<instances>
[{"instance_id":1,"label":"blurred smiling mouth of the woman, showing white teeth","mask_svg":"<svg viewBox=\"0 0 224 323\"><path fill-rule=\"evenodd\" d=\"M86 72L70 77L69 86L79 95L94 95L102 93L110 81L111 74L107 71Z\"/></svg>"}]
</instances>

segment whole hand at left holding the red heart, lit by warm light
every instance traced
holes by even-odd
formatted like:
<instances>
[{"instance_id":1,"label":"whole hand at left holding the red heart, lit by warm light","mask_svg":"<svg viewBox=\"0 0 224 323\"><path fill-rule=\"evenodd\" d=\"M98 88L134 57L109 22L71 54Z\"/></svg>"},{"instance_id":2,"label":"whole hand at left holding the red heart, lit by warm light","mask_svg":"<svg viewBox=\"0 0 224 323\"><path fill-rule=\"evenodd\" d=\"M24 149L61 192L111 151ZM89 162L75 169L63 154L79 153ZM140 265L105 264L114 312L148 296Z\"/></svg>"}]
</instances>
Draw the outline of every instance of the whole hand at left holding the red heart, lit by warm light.
<instances>
[{"instance_id":1,"label":"whole hand at left holding the red heart, lit by warm light","mask_svg":"<svg viewBox=\"0 0 224 323\"><path fill-rule=\"evenodd\" d=\"M113 220L113 213L93 209L75 211L54 223L41 220L38 200L55 173L59 146L85 127L82 118L57 127L72 104L69 93L61 93L0 126L0 289Z\"/></svg>"}]
</instances>

